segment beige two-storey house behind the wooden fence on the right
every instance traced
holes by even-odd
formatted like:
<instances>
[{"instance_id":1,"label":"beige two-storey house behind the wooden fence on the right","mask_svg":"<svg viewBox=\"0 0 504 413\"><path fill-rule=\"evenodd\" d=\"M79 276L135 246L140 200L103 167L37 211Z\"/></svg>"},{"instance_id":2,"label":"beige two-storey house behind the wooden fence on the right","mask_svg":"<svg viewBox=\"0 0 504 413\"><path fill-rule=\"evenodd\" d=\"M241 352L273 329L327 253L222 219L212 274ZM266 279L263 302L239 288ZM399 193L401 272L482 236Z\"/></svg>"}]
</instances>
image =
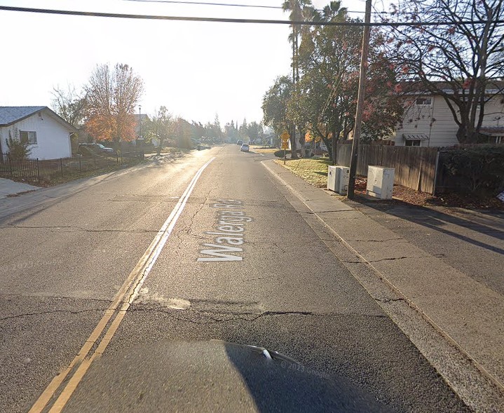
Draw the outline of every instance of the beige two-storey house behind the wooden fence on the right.
<instances>
[{"instance_id":1,"label":"beige two-storey house behind the wooden fence on the right","mask_svg":"<svg viewBox=\"0 0 504 413\"><path fill-rule=\"evenodd\" d=\"M501 83L501 82L498 82ZM444 93L453 94L449 88ZM480 134L489 143L504 143L504 95L499 85L486 90L489 100ZM402 123L390 137L397 146L450 147L458 144L458 126L447 102L440 93L412 92L405 97L407 104Z\"/></svg>"}]
</instances>

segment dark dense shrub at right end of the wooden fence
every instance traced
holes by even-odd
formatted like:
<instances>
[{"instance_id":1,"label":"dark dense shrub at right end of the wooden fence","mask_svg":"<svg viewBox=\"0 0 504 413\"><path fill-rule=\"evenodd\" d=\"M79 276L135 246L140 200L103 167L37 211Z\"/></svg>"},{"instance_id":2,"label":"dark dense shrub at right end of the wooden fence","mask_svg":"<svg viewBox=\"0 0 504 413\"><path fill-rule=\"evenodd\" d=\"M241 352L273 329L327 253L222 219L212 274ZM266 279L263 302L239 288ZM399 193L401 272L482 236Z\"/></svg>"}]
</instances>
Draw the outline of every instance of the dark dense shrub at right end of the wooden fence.
<instances>
[{"instance_id":1,"label":"dark dense shrub at right end of the wooden fence","mask_svg":"<svg viewBox=\"0 0 504 413\"><path fill-rule=\"evenodd\" d=\"M504 145L447 149L442 161L449 175L470 191L498 194L504 187Z\"/></svg>"}]
</instances>

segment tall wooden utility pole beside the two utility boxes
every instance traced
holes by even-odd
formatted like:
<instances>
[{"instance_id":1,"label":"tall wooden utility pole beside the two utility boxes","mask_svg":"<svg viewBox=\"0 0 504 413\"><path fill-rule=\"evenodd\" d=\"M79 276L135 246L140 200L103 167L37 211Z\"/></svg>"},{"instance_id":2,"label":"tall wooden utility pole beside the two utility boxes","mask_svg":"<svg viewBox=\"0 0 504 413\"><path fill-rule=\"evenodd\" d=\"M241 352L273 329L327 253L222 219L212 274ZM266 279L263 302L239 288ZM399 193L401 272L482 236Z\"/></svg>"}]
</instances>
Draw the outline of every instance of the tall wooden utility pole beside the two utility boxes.
<instances>
[{"instance_id":1,"label":"tall wooden utility pole beside the two utility boxes","mask_svg":"<svg viewBox=\"0 0 504 413\"><path fill-rule=\"evenodd\" d=\"M362 109L366 91L367 55L369 53L369 32L371 31L371 0L366 0L366 15L364 18L364 34L362 35L362 55L360 57L359 93L357 95L357 113L353 128L352 155L350 157L350 180L348 182L348 199L353 199L355 192L355 175L357 175L357 156L359 153L360 131L362 129Z\"/></svg>"}]
</instances>

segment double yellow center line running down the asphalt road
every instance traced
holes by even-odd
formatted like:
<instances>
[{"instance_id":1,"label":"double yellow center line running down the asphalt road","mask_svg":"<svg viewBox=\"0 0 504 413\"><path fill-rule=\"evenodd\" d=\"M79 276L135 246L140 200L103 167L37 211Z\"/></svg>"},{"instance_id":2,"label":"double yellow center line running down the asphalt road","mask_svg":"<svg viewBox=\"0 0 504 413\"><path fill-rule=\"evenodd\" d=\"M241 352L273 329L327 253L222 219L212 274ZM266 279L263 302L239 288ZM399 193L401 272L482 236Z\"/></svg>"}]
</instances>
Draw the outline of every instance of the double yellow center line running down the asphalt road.
<instances>
[{"instance_id":1,"label":"double yellow center line running down the asphalt road","mask_svg":"<svg viewBox=\"0 0 504 413\"><path fill-rule=\"evenodd\" d=\"M149 245L149 248L144 252L142 258L139 259L135 268L132 269L128 278L126 278L121 288L118 290L114 299L109 306L109 308L105 311L103 317L100 322L95 327L95 330L90 334L86 343L82 346L81 350L74 358L71 360L71 363L64 370L64 372L58 374L46 387L40 397L36 400L32 408L29 410L29 413L40 413L46 407L48 402L53 398L57 390L62 385L63 381L69 377L67 384L62 389L60 395L55 400L52 407L50 407L50 413L58 413L61 412L64 406L67 404L69 398L72 393L74 393L76 387L81 382L84 374L88 371L89 366L93 363L95 358L100 357L102 353L105 351L105 348L109 345L112 337L116 333L121 321L123 320L126 311L130 308L130 305L137 297L139 289L142 287L144 280L149 275L152 267L156 263L161 250L163 250L163 246L165 245L170 233L172 233L175 224L177 223L177 219L179 219L184 207L191 196L191 193L196 186L196 182L198 182L199 177L203 173L203 170L207 168L208 165L215 158L211 158L210 161L207 161L205 165L203 165L196 175L194 175L193 179L189 183L189 186L184 191L184 194L179 198L177 205L173 208L170 216L164 222L161 229L159 229L158 233L154 237L154 240ZM114 319L110 322L110 320ZM105 328L109 325L108 330L102 336ZM100 340L100 337L102 339ZM91 348L96 346L95 351L90 354ZM73 372L73 374L71 374Z\"/></svg>"}]
</instances>

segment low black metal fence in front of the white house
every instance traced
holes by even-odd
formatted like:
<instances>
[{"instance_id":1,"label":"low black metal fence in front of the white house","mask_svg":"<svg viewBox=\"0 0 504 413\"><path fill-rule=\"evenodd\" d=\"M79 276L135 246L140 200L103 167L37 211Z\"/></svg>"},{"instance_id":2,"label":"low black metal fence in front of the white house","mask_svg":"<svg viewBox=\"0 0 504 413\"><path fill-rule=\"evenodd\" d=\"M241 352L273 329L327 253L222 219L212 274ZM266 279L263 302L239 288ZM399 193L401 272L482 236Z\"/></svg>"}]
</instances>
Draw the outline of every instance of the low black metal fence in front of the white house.
<instances>
[{"instance_id":1,"label":"low black metal fence in front of the white house","mask_svg":"<svg viewBox=\"0 0 504 413\"><path fill-rule=\"evenodd\" d=\"M116 165L128 165L144 158L144 153L126 152L114 156L77 156L50 160L13 160L0 157L0 177L23 179L29 182L50 182L56 178L89 170L107 170Z\"/></svg>"}]
</instances>

